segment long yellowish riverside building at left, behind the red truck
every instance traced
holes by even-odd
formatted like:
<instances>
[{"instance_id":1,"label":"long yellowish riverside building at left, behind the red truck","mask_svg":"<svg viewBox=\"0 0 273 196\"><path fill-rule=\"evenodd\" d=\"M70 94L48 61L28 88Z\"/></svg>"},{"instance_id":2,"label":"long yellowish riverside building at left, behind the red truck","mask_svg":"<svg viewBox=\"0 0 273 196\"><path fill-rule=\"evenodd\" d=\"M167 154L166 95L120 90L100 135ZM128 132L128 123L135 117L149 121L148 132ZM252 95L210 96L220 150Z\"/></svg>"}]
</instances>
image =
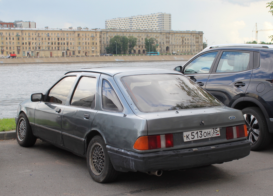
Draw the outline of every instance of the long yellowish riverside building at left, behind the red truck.
<instances>
[{"instance_id":1,"label":"long yellowish riverside building at left, behind the red truck","mask_svg":"<svg viewBox=\"0 0 273 196\"><path fill-rule=\"evenodd\" d=\"M99 31L50 28L0 28L1 55L17 57L92 56L99 54Z\"/></svg>"}]
</instances>

